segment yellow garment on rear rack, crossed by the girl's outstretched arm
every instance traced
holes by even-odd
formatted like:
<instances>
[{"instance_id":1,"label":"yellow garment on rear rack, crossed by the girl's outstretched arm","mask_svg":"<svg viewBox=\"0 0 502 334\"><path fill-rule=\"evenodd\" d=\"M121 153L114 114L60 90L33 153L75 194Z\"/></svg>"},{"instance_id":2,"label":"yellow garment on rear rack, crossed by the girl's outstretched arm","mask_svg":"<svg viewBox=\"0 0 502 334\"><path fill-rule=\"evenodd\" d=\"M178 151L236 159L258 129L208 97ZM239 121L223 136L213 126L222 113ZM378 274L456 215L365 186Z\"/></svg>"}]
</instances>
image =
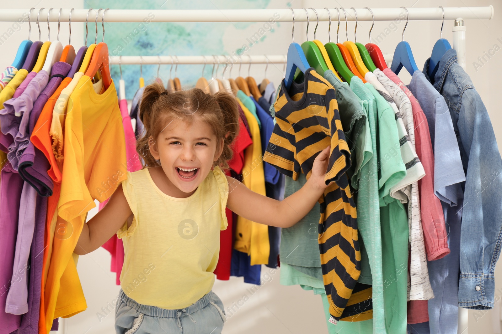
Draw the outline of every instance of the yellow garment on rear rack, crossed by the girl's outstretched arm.
<instances>
[{"instance_id":1,"label":"yellow garment on rear rack, crossed by the girl's outstretched arm","mask_svg":"<svg viewBox=\"0 0 502 334\"><path fill-rule=\"evenodd\" d=\"M237 100L253 137L253 144L244 150L244 166L242 167L242 183L260 195L265 193L265 174L263 171L262 142L260 127L255 116L239 100ZM237 217L235 226L234 249L247 253L251 264L268 264L270 255L269 226Z\"/></svg>"}]
</instances>

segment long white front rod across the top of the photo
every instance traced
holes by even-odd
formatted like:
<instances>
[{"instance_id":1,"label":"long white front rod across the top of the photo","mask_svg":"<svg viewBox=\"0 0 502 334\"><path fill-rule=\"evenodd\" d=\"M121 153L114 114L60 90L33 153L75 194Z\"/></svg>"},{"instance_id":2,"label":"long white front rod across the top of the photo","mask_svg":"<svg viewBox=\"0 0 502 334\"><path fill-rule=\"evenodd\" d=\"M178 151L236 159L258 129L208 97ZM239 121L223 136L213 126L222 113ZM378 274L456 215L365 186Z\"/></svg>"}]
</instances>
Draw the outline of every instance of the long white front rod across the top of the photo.
<instances>
[{"instance_id":1,"label":"long white front rod across the top of the photo","mask_svg":"<svg viewBox=\"0 0 502 334\"><path fill-rule=\"evenodd\" d=\"M94 23L98 9L90 11L88 22ZM375 8L371 9L375 21L394 21L406 19L406 11L402 8ZM38 9L32 10L31 22L37 21ZM316 9L319 21L328 21L328 12L325 9ZM354 11L345 9L348 21L355 21ZM0 12L0 21L14 22L28 20L29 9L3 9ZM73 10L71 22L85 22L88 10ZM295 9L295 21L307 21L307 15L303 9ZM329 9L331 21L337 22L337 10ZM341 12L341 11L340 11ZM356 9L358 21L371 21L371 14L367 9ZM443 12L437 8L408 8L409 20L442 20ZM99 13L98 21L101 20L104 10ZM456 18L468 19L488 19L493 17L493 6L487 7L445 7L444 19L454 20ZM40 21L47 21L48 9L40 12ZM61 11L61 22L68 22L69 9ZM42 20L42 18L44 18ZM344 21L343 12L341 20ZM57 22L59 19L59 9L50 13L49 21ZM293 16L289 9L277 10L113 10L106 11L104 20L106 22L292 22ZM316 15L313 10L309 10L309 21L315 22Z\"/></svg>"}]
</instances>

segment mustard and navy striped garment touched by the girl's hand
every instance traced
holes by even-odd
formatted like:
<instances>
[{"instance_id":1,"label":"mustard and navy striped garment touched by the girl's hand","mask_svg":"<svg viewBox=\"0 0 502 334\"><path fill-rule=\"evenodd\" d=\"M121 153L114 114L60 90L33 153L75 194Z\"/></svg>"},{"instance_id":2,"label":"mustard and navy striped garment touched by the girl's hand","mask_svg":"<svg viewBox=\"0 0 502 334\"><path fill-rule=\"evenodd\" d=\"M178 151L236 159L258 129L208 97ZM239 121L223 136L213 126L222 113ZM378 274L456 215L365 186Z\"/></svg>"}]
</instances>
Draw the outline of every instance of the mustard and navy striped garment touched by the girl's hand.
<instances>
[{"instance_id":1,"label":"mustard and navy striped garment touched by the girl's hand","mask_svg":"<svg viewBox=\"0 0 502 334\"><path fill-rule=\"evenodd\" d=\"M359 278L361 257L356 208L345 174L350 167L350 151L335 90L313 68L305 72L304 83L293 83L289 92L283 80L275 103L275 118L263 160L295 181L301 173L308 179L315 157L331 145L325 181L335 182L319 198L318 242L329 312L336 323L340 318L360 313L357 306L368 300L368 293L366 288L362 293L352 293ZM349 314L344 313L346 308Z\"/></svg>"}]
</instances>

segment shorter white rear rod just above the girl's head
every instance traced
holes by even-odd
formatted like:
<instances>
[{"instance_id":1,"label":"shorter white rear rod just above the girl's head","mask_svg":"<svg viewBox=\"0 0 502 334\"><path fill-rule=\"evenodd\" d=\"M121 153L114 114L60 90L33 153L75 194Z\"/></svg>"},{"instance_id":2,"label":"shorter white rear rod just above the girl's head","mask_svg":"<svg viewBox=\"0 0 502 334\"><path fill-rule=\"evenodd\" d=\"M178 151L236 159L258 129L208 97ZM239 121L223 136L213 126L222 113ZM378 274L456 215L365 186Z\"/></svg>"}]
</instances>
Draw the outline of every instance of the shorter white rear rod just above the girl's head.
<instances>
[{"instance_id":1,"label":"shorter white rear rod just above the girl's head","mask_svg":"<svg viewBox=\"0 0 502 334\"><path fill-rule=\"evenodd\" d=\"M216 59L215 59L216 58ZM268 56L122 56L110 57L109 63L118 65L156 65L156 64L284 64L286 55L268 55Z\"/></svg>"}]
</instances>

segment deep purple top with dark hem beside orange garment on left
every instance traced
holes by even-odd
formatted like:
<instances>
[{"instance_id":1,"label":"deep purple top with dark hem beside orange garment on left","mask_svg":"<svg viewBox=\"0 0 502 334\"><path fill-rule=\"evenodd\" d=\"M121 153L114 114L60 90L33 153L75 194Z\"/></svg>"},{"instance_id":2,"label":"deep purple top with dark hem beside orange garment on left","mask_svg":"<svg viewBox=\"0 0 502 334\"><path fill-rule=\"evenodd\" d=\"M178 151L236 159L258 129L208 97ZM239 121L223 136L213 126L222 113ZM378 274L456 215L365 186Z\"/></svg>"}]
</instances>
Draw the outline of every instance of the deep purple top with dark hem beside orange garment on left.
<instances>
[{"instance_id":1,"label":"deep purple top with dark hem beside orange garment on left","mask_svg":"<svg viewBox=\"0 0 502 334\"><path fill-rule=\"evenodd\" d=\"M65 62L57 62L52 66L52 75L49 83L33 104L33 109L30 113L29 137L32 135L45 103L54 94L61 81L63 81L68 71L70 71L70 68L71 65ZM29 141L28 146L19 157L18 171L23 180L33 186L41 196L52 195L53 182L47 173L49 168L50 164L45 155Z\"/></svg>"}]
</instances>

